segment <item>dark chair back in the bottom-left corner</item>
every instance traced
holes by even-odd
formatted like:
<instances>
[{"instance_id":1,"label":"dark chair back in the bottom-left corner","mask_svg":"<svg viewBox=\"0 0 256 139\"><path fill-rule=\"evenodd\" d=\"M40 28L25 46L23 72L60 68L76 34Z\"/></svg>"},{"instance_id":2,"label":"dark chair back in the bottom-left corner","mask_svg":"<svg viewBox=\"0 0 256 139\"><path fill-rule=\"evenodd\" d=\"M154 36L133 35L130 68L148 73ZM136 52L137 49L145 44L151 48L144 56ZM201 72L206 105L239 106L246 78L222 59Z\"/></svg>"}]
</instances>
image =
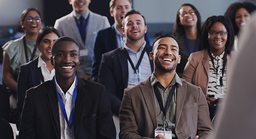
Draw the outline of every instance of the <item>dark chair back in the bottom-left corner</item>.
<instances>
[{"instance_id":1,"label":"dark chair back in the bottom-left corner","mask_svg":"<svg viewBox=\"0 0 256 139\"><path fill-rule=\"evenodd\" d=\"M5 120L0 118L0 137L6 139L13 139L12 126Z\"/></svg>"}]
</instances>

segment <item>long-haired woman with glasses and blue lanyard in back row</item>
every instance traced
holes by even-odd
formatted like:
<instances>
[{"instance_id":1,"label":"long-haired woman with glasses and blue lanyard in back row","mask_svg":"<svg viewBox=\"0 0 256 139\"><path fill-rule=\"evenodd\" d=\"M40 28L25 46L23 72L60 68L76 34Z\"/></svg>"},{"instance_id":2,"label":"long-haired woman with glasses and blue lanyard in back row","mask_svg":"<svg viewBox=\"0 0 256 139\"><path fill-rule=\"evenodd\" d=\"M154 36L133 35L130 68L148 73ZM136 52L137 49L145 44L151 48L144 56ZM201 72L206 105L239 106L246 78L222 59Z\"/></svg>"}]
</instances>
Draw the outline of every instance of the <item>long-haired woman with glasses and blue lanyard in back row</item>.
<instances>
[{"instance_id":1,"label":"long-haired woman with glasses and blue lanyard in back row","mask_svg":"<svg viewBox=\"0 0 256 139\"><path fill-rule=\"evenodd\" d=\"M179 54L182 56L177 65L177 74L182 78L183 69L190 53L197 52L201 34L201 16L194 5L184 3L176 14L173 35L179 43Z\"/></svg>"}]
</instances>

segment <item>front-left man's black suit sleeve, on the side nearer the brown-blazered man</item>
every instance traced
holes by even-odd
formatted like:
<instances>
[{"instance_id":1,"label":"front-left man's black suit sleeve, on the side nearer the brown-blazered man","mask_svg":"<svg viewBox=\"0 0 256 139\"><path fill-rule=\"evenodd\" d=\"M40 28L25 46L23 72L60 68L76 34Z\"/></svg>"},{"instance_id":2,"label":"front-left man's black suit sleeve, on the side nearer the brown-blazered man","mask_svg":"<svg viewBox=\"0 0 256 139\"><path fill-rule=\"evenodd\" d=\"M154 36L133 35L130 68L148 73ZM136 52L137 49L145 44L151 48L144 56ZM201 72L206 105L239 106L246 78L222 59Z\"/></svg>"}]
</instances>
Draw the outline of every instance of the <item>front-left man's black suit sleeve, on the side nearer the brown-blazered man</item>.
<instances>
[{"instance_id":1,"label":"front-left man's black suit sleeve, on the side nearer the brown-blazered man","mask_svg":"<svg viewBox=\"0 0 256 139\"><path fill-rule=\"evenodd\" d=\"M97 112L97 138L116 138L115 125L113 123L111 105L105 87L99 98Z\"/></svg>"}]
</instances>

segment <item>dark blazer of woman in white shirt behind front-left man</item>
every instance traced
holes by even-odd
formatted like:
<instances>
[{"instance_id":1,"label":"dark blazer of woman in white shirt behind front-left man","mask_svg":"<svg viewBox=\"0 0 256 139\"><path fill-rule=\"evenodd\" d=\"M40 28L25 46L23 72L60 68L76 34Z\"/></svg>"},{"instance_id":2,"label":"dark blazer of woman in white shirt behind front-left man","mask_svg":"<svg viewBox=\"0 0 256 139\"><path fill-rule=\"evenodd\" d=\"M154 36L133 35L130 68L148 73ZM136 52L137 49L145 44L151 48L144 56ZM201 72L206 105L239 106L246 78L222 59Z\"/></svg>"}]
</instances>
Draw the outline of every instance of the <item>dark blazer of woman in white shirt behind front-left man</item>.
<instances>
[{"instance_id":1,"label":"dark blazer of woman in white shirt behind front-left man","mask_svg":"<svg viewBox=\"0 0 256 139\"><path fill-rule=\"evenodd\" d=\"M22 112L26 90L40 85L44 82L41 68L38 68L38 58L29 63L20 65L20 72L17 79L17 108Z\"/></svg>"}]
</instances>

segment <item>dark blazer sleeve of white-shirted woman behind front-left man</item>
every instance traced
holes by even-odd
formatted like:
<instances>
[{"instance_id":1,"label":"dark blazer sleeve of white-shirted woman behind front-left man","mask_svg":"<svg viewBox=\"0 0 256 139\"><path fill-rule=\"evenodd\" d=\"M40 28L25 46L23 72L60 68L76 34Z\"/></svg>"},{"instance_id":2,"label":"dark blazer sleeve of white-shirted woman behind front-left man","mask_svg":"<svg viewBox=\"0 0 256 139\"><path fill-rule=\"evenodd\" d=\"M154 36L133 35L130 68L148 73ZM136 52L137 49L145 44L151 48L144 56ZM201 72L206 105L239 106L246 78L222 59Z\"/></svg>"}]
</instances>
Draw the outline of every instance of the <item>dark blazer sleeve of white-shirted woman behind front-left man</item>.
<instances>
[{"instance_id":1,"label":"dark blazer sleeve of white-shirted woman behind front-left man","mask_svg":"<svg viewBox=\"0 0 256 139\"><path fill-rule=\"evenodd\" d=\"M28 88L30 68L27 66L20 66L20 72L17 79L17 108L22 112L26 90Z\"/></svg>"}]
</instances>

